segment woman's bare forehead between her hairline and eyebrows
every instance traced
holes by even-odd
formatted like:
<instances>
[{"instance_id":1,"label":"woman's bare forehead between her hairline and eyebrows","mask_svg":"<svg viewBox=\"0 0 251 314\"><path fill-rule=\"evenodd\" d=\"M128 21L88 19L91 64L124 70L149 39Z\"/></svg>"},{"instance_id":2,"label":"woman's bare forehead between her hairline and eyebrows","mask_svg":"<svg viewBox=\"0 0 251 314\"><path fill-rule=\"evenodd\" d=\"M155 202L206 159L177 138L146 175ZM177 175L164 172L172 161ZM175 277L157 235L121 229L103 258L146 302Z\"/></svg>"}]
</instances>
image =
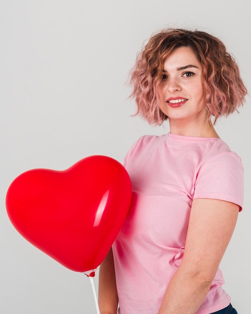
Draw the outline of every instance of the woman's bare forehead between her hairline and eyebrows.
<instances>
[{"instance_id":1,"label":"woman's bare forehead between her hairline and eyebrows","mask_svg":"<svg viewBox=\"0 0 251 314\"><path fill-rule=\"evenodd\" d=\"M179 47L165 57L163 66L165 68L178 68L187 65L194 65L201 68L201 64L190 47Z\"/></svg>"}]
</instances>

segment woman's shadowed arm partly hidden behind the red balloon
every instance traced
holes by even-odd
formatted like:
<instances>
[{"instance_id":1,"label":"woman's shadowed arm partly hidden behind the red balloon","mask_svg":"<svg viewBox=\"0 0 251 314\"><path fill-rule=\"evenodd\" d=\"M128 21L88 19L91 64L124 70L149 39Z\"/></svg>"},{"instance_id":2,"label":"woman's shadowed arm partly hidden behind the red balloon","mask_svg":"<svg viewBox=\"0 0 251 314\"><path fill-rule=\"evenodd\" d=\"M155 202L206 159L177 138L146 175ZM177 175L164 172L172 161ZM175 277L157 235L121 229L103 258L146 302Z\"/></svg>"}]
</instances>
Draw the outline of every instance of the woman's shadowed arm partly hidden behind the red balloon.
<instances>
[{"instance_id":1,"label":"woman's shadowed arm partly hidden behind the red balloon","mask_svg":"<svg viewBox=\"0 0 251 314\"><path fill-rule=\"evenodd\" d=\"M99 309L100 314L116 314L118 294L115 279L112 249L99 269Z\"/></svg>"}]
</instances>

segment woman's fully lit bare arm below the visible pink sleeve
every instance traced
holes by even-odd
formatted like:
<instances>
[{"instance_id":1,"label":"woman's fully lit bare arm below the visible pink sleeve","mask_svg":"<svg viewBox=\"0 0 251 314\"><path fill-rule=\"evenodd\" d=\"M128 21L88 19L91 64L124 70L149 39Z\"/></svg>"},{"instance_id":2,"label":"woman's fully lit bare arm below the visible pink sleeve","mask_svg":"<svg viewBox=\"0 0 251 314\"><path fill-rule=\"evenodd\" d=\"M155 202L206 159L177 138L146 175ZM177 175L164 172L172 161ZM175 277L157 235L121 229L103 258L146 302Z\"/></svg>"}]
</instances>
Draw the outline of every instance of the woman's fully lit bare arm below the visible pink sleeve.
<instances>
[{"instance_id":1,"label":"woman's fully lit bare arm below the visible pink sleeve","mask_svg":"<svg viewBox=\"0 0 251 314\"><path fill-rule=\"evenodd\" d=\"M206 297L232 236L239 206L195 199L184 256L172 277L158 314L194 314Z\"/></svg>"}]
</instances>

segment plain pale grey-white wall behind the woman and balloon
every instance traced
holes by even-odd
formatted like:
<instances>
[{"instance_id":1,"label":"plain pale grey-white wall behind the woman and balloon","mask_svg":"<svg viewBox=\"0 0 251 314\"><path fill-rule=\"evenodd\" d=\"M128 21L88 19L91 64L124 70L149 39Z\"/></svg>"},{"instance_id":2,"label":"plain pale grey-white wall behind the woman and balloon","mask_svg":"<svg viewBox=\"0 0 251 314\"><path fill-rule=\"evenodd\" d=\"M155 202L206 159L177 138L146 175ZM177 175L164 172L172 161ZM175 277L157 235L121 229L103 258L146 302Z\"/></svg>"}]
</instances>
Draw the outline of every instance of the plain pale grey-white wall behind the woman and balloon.
<instances>
[{"instance_id":1,"label":"plain pale grey-white wall behind the woman and balloon","mask_svg":"<svg viewBox=\"0 0 251 314\"><path fill-rule=\"evenodd\" d=\"M0 4L0 312L95 313L88 278L64 268L14 229L5 208L11 182L34 168L64 170L104 154L123 162L139 136L168 132L131 117L126 78L143 41L166 26L220 37L250 89L246 0L8 0ZM242 158L243 212L221 263L238 313L250 300L250 98L217 132ZM97 285L97 277L95 277Z\"/></svg>"}]
</instances>

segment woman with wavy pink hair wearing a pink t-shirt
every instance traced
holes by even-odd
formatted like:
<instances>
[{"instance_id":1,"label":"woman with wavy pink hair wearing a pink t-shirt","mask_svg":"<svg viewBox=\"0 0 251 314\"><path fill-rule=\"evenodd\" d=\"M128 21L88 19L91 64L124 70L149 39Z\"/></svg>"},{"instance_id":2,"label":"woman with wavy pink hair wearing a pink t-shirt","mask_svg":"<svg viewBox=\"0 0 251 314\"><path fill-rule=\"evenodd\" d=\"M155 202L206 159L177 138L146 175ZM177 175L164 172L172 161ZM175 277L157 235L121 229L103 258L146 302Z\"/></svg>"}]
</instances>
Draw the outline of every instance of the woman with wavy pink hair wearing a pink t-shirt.
<instances>
[{"instance_id":1,"label":"woman with wavy pink hair wearing a pink t-shirt","mask_svg":"<svg viewBox=\"0 0 251 314\"><path fill-rule=\"evenodd\" d=\"M242 209L243 168L213 124L243 104L238 66L219 39L167 29L138 55L131 83L137 113L168 119L170 132L126 155L133 199L100 267L100 313L236 313L218 266Z\"/></svg>"}]
</instances>

